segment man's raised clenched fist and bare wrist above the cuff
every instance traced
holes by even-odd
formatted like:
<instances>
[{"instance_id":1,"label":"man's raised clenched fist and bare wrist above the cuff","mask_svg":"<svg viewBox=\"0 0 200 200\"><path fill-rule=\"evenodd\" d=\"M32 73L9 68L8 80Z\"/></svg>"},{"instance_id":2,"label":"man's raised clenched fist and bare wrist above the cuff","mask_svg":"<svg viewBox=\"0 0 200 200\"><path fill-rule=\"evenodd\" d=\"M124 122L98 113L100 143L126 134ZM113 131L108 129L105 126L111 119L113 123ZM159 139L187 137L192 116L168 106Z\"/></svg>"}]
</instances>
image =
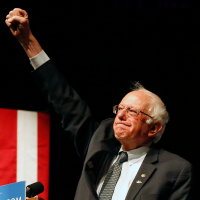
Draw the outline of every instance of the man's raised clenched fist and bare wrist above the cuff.
<instances>
[{"instance_id":1,"label":"man's raised clenched fist and bare wrist above the cuff","mask_svg":"<svg viewBox=\"0 0 200 200\"><path fill-rule=\"evenodd\" d=\"M29 58L34 57L42 51L38 41L33 36L28 14L25 10L15 8L6 16L6 24L12 34L18 39Z\"/></svg>"}]
</instances>

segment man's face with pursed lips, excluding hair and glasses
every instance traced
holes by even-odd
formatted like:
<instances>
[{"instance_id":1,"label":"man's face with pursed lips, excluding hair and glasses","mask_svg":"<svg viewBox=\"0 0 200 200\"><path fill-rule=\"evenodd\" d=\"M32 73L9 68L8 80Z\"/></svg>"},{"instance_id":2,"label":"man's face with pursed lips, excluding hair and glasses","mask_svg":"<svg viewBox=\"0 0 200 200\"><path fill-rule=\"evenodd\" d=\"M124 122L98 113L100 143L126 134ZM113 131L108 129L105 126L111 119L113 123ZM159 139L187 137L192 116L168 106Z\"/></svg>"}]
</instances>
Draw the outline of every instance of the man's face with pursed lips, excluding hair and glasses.
<instances>
[{"instance_id":1,"label":"man's face with pursed lips, excluding hair and glasses","mask_svg":"<svg viewBox=\"0 0 200 200\"><path fill-rule=\"evenodd\" d=\"M132 106L148 114L150 98L143 91L133 91L122 99L120 105L126 108ZM123 145L124 150L138 148L151 143L148 134L152 125L146 123L147 119L148 116L140 112L136 117L129 116L125 109L117 113L113 128L115 137Z\"/></svg>"}]
</instances>

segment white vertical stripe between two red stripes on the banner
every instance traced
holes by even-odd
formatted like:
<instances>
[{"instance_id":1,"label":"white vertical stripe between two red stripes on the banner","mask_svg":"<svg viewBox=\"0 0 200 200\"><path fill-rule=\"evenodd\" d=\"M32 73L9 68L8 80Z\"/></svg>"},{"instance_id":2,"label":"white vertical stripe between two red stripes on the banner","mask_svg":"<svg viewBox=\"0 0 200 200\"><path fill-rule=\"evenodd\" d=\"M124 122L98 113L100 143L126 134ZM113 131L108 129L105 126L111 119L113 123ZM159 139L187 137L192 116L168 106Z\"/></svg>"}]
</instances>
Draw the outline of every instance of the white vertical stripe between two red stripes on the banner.
<instances>
[{"instance_id":1,"label":"white vertical stripe between two red stripes on the banner","mask_svg":"<svg viewBox=\"0 0 200 200\"><path fill-rule=\"evenodd\" d=\"M17 181L37 181L37 112L17 112Z\"/></svg>"}]
</instances>

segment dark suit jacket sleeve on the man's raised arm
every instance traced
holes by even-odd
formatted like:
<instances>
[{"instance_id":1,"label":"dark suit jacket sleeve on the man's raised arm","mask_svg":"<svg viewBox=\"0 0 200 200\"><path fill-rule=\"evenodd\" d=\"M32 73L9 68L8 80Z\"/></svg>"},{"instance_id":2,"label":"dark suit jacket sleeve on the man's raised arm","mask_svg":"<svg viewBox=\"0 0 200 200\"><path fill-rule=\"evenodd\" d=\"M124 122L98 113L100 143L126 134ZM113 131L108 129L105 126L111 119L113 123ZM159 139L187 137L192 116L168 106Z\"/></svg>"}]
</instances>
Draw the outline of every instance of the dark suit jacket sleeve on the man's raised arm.
<instances>
[{"instance_id":1,"label":"dark suit jacket sleeve on the man's raised arm","mask_svg":"<svg viewBox=\"0 0 200 200\"><path fill-rule=\"evenodd\" d=\"M85 158L91 137L98 127L88 105L65 80L51 60L32 72L62 127L73 139L77 153Z\"/></svg>"}]
</instances>

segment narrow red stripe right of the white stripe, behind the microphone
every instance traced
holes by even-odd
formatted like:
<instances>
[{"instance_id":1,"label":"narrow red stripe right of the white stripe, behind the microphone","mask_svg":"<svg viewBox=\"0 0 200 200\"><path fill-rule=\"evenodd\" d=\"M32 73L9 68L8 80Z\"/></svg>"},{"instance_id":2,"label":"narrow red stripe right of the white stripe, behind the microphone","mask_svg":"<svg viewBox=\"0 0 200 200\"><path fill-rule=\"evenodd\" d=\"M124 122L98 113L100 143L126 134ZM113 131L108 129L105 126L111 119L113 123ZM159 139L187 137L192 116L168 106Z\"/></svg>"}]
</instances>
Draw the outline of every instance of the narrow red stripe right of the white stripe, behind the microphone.
<instances>
[{"instance_id":1,"label":"narrow red stripe right of the white stripe, behind the microphone","mask_svg":"<svg viewBox=\"0 0 200 200\"><path fill-rule=\"evenodd\" d=\"M44 185L39 196L49 198L50 116L38 113L38 181Z\"/></svg>"}]
</instances>

